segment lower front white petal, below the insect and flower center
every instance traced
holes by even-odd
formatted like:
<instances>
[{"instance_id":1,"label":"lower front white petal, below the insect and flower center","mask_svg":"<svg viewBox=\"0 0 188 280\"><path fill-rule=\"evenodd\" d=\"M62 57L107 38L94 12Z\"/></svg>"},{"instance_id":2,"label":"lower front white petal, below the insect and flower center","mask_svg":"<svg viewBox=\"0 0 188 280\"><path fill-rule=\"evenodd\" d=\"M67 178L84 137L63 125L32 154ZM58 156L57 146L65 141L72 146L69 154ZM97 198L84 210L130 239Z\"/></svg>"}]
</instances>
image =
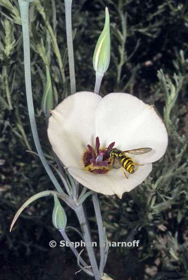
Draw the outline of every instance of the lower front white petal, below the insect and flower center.
<instances>
[{"instance_id":1,"label":"lower front white petal, below the insect and flower center","mask_svg":"<svg viewBox=\"0 0 188 280\"><path fill-rule=\"evenodd\" d=\"M112 169L106 174L93 174L83 169L72 167L68 168L72 175L79 183L94 192L100 192L107 195L117 194L120 198L123 192L130 192L152 171L152 164L139 166L134 174L128 174L128 179L120 169Z\"/></svg>"}]
</instances>

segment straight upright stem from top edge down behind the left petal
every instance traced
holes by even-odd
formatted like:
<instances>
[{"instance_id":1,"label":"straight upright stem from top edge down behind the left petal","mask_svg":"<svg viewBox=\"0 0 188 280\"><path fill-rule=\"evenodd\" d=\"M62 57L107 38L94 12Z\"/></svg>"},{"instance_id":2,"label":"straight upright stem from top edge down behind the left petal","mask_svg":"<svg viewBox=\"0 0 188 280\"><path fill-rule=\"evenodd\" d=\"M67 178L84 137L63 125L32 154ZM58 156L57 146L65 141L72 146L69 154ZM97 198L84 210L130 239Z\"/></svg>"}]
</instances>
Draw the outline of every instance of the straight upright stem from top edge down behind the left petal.
<instances>
[{"instance_id":1,"label":"straight upright stem from top edge down behind the left petal","mask_svg":"<svg viewBox=\"0 0 188 280\"><path fill-rule=\"evenodd\" d=\"M72 43L72 22L71 22L71 6L72 0L65 0L65 17L66 17L66 33L68 45L68 65L70 73L70 90L71 94L76 92L75 70L74 70L74 52Z\"/></svg>"}]
</instances>

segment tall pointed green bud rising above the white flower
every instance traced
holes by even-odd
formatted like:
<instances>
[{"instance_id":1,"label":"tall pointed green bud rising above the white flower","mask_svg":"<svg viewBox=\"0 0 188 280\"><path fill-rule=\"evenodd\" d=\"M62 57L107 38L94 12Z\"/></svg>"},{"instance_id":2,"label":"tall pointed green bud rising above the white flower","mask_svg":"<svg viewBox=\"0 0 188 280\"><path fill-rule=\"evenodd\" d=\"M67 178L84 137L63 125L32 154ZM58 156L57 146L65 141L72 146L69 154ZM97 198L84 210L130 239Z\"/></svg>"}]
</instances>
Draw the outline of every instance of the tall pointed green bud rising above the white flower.
<instances>
[{"instance_id":1,"label":"tall pointed green bud rising above the white flower","mask_svg":"<svg viewBox=\"0 0 188 280\"><path fill-rule=\"evenodd\" d=\"M105 9L105 24L93 55L93 68L104 74L110 64L110 17L108 8Z\"/></svg>"}]
</instances>

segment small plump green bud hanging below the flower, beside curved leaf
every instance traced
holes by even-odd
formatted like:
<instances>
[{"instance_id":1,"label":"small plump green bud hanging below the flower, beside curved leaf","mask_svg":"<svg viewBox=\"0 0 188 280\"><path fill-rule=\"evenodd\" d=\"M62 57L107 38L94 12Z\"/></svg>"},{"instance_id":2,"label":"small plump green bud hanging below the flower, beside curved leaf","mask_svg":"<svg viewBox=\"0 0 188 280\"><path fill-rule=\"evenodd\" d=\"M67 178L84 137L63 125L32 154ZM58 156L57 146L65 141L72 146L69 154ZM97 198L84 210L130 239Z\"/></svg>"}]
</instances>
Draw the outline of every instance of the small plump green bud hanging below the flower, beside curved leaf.
<instances>
[{"instance_id":1,"label":"small plump green bud hanging below the flower, beside curved leaf","mask_svg":"<svg viewBox=\"0 0 188 280\"><path fill-rule=\"evenodd\" d=\"M52 223L53 226L59 230L65 229L67 226L66 212L61 206L61 203L59 202L59 199L57 198L56 194L54 194L54 208L52 212Z\"/></svg>"}]
</instances>

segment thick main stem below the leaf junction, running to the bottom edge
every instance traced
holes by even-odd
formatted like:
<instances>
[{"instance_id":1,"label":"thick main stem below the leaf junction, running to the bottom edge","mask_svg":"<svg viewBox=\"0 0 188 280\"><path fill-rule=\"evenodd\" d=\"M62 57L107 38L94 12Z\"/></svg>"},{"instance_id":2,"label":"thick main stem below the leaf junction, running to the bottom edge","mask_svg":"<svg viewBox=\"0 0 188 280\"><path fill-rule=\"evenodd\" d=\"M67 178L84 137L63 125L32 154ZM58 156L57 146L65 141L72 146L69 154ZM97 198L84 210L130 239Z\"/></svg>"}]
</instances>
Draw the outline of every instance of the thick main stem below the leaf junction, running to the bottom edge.
<instances>
[{"instance_id":1,"label":"thick main stem below the leaf junction, running to the bottom edge","mask_svg":"<svg viewBox=\"0 0 188 280\"><path fill-rule=\"evenodd\" d=\"M101 276L100 276L99 269L97 266L97 261L96 261L94 250L92 247L90 231L89 231L88 223L87 223L87 220L85 217L85 211L84 211L83 205L81 205L80 207L75 209L75 212L76 212L76 215L78 217L79 223L82 228L82 232L83 232L84 240L85 240L85 246L87 249L87 253L88 253L89 261L90 261L92 271L94 274L94 278L95 278L95 280L101 280Z\"/></svg>"}]
</instances>

